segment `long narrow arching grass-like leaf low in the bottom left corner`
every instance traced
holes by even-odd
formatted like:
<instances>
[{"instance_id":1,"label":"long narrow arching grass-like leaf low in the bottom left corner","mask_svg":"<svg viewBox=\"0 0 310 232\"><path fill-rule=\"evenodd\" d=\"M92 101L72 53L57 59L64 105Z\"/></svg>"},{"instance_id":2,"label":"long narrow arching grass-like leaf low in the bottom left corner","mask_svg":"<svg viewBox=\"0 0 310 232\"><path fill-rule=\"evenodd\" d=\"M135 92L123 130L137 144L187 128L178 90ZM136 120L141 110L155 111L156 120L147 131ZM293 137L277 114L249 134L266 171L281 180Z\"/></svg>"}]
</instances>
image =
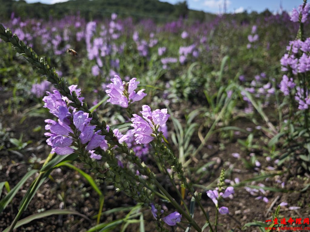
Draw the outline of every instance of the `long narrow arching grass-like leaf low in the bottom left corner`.
<instances>
[{"instance_id":1,"label":"long narrow arching grass-like leaf low in the bottom left corner","mask_svg":"<svg viewBox=\"0 0 310 232\"><path fill-rule=\"evenodd\" d=\"M35 213L33 215L30 215L28 217L25 217L24 219L18 221L14 227L14 229L20 227L20 226L23 226L33 220L37 220L37 219L40 219L42 217L48 217L48 216L51 216L51 215L64 215L64 214L74 214L74 215L78 215L80 217L83 217L85 218L86 220L89 220L88 217L86 217L84 214L81 214L75 210L69 210L69 209L51 209L51 210L47 210L47 211L44 211L44 212L41 212L41 213ZM90 221L90 220L89 220ZM5 230L3 230L3 232L7 232L9 231L9 227L7 227Z\"/></svg>"}]
</instances>

